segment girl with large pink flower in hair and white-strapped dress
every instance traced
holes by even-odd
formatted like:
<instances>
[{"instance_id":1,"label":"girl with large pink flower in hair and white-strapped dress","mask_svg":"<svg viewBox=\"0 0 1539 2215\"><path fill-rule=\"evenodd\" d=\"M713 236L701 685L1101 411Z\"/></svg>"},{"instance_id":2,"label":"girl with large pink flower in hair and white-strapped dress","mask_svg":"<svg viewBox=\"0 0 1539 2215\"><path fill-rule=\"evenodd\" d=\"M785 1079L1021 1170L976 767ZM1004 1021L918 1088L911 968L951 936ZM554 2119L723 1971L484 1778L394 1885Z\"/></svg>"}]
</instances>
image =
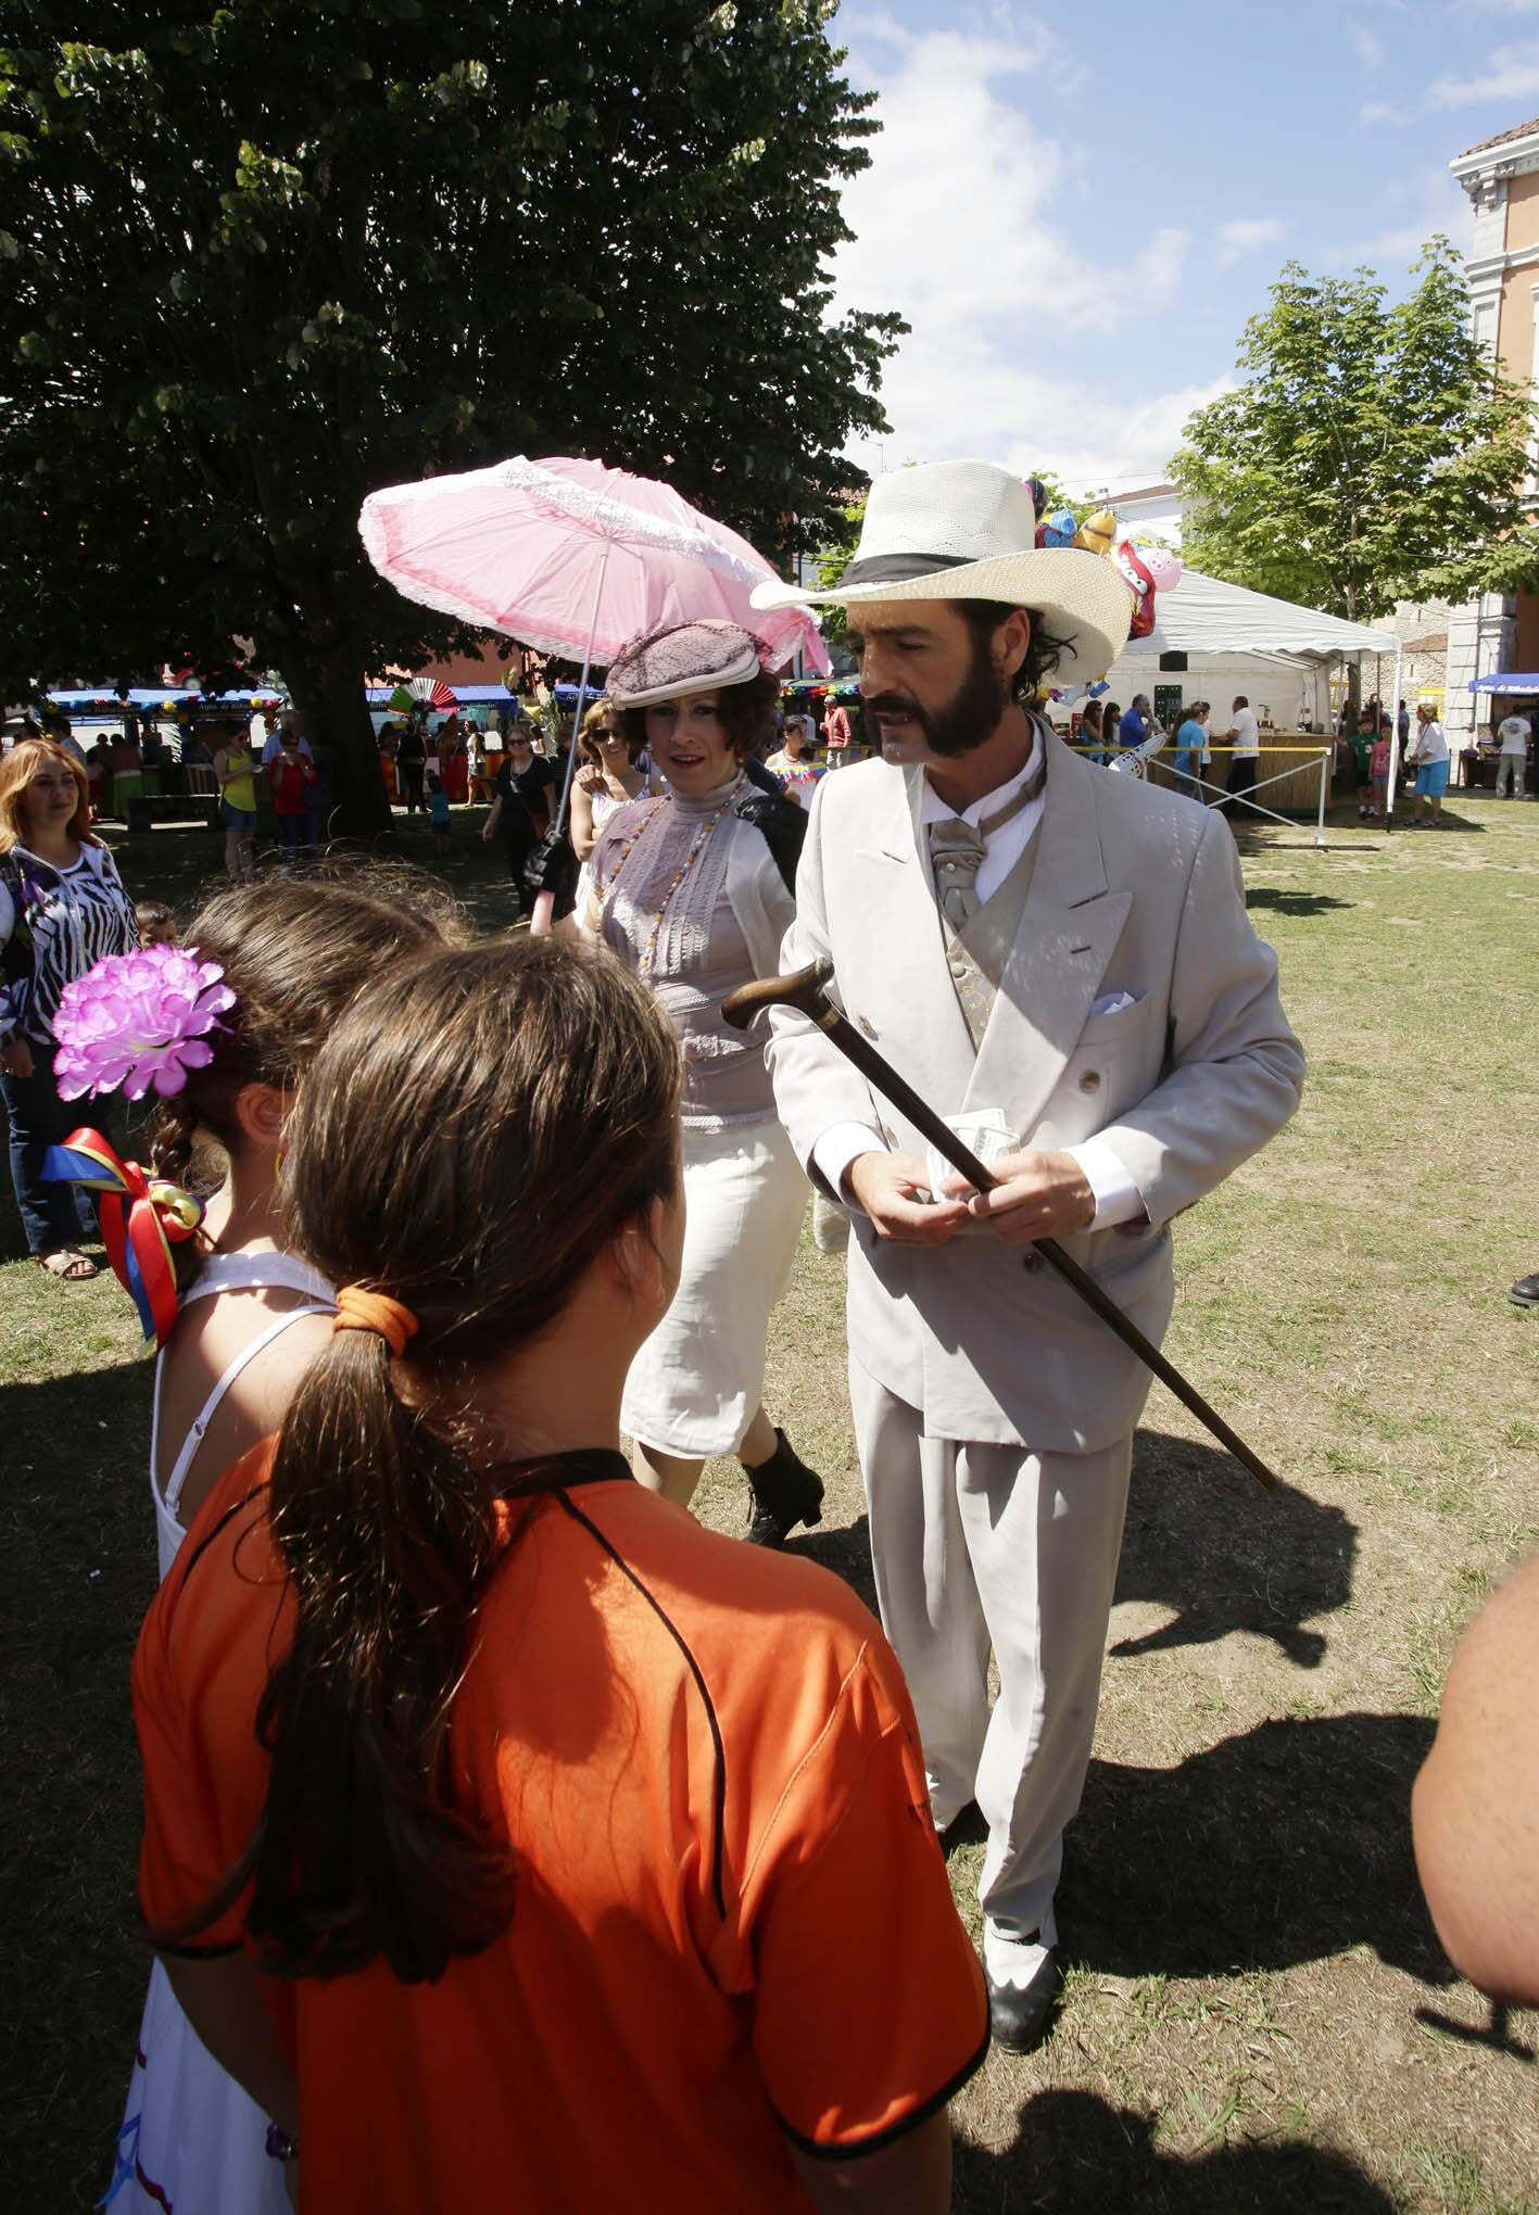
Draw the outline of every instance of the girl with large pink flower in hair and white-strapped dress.
<instances>
[{"instance_id":1,"label":"girl with large pink flower in hair and white-strapped dress","mask_svg":"<svg viewBox=\"0 0 1539 2215\"><path fill-rule=\"evenodd\" d=\"M328 1345L332 1287L286 1247L283 1125L363 983L458 937L447 902L436 897L434 913L432 899L405 875L379 888L326 877L233 886L204 906L186 946L104 961L64 995L71 1127L91 1125L91 1096L111 1090L153 1101L148 1172L89 1143L55 1156L55 1170L106 1187L109 1251L122 1256L146 1336L159 1338L151 1500L162 1577L219 1471L281 1422ZM182 1187L202 1143L224 1174L199 1207ZM122 1238L109 1227L115 1209ZM199 2044L155 1967L113 2215L281 2215L288 2195L281 2162L266 2153L268 2124Z\"/></svg>"}]
</instances>

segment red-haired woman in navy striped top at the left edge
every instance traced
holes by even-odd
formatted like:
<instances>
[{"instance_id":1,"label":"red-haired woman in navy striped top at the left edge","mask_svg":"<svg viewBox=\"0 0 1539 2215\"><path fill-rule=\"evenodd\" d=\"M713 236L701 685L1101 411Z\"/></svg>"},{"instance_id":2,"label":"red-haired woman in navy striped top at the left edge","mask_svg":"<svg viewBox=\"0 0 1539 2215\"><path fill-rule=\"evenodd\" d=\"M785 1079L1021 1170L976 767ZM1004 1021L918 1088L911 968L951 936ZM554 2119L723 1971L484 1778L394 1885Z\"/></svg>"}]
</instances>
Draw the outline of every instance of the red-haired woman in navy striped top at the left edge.
<instances>
[{"instance_id":1,"label":"red-haired woman in navy striped top at the left edge","mask_svg":"<svg viewBox=\"0 0 1539 2215\"><path fill-rule=\"evenodd\" d=\"M53 1012L75 977L140 944L128 895L91 833L91 786L51 740L0 762L0 1096L11 1119L11 1183L33 1260L95 1276L75 1240L95 1225L73 1185L44 1185L42 1158L80 1123L53 1083Z\"/></svg>"}]
</instances>

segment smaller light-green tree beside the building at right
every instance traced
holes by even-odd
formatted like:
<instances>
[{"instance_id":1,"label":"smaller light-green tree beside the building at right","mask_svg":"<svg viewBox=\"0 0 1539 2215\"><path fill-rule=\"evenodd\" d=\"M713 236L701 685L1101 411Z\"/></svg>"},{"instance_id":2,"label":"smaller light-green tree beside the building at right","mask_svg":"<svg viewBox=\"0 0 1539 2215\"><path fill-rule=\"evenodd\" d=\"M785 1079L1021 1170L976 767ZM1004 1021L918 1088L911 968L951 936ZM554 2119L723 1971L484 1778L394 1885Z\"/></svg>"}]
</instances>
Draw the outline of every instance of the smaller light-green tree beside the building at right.
<instances>
[{"instance_id":1,"label":"smaller light-green tree beside the building at right","mask_svg":"<svg viewBox=\"0 0 1539 2215\"><path fill-rule=\"evenodd\" d=\"M1470 337L1450 241L1413 275L1391 303L1373 270L1284 266L1247 323L1244 381L1171 463L1191 567L1364 622L1539 576L1528 394Z\"/></svg>"}]
</instances>

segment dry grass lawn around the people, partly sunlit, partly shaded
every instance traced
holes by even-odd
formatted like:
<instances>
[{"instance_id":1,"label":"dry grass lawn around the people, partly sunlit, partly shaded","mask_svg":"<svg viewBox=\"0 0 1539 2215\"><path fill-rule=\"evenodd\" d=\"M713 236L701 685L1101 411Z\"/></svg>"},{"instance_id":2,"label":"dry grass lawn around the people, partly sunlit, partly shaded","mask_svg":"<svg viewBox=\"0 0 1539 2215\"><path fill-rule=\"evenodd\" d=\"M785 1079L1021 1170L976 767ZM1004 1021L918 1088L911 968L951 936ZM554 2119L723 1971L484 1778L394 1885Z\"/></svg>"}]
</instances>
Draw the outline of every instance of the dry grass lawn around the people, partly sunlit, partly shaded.
<instances>
[{"instance_id":1,"label":"dry grass lawn around the people, partly sunlit, partly shaded","mask_svg":"<svg viewBox=\"0 0 1539 2215\"><path fill-rule=\"evenodd\" d=\"M447 875L498 924L476 826ZM965 2215L1539 2208L1539 2018L1453 1976L1408 1843L1450 1648L1539 1544L1539 1316L1506 1300L1539 1267L1539 806L1455 795L1435 835L1333 837L1242 839L1311 1081L1178 1225L1169 1333L1287 1491L1156 1387L1061 1889L1067 2005L957 2102ZM425 859L425 833L405 848ZM117 851L182 908L219 866L195 833ZM151 1369L111 1278L20 1258L9 1189L0 1384L11 2206L64 2211L104 2188L144 1980L126 1670L155 1577ZM830 1477L797 1548L870 1597L841 1260L810 1238L771 1407ZM704 1519L742 1511L709 1471ZM952 1861L968 1916L979 1863Z\"/></svg>"}]
</instances>

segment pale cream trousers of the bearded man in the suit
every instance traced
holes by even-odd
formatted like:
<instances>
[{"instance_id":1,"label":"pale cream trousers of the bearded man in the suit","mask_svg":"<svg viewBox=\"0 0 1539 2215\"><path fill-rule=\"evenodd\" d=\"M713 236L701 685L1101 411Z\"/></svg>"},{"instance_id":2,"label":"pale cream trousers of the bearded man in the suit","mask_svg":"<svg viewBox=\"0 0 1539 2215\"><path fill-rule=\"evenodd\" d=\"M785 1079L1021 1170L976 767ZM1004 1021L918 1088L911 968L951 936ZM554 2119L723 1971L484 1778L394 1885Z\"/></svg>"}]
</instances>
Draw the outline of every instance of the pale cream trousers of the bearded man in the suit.
<instances>
[{"instance_id":1,"label":"pale cream trousers of the bearded man in the suit","mask_svg":"<svg viewBox=\"0 0 1539 2215\"><path fill-rule=\"evenodd\" d=\"M1027 1453L926 1438L850 1358L881 1626L919 1717L937 1827L977 1799L1003 1934L1043 1925L1096 1732L1134 1442ZM988 1659L999 1666L990 1714Z\"/></svg>"}]
</instances>

